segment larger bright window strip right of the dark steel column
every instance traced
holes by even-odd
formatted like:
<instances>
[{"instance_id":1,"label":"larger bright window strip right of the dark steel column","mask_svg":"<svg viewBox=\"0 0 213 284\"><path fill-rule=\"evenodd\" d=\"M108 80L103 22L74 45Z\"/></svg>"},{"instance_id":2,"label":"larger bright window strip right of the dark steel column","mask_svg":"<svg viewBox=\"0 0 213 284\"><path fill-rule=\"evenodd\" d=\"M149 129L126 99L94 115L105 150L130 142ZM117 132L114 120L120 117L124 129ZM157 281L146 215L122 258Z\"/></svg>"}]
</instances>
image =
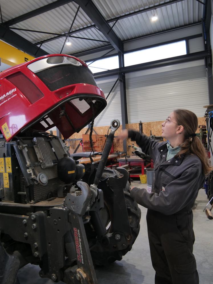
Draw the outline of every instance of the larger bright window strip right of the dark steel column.
<instances>
[{"instance_id":1,"label":"larger bright window strip right of the dark steel column","mask_svg":"<svg viewBox=\"0 0 213 284\"><path fill-rule=\"evenodd\" d=\"M130 66L186 54L186 41L181 40L124 54L124 65Z\"/></svg>"}]
</instances>

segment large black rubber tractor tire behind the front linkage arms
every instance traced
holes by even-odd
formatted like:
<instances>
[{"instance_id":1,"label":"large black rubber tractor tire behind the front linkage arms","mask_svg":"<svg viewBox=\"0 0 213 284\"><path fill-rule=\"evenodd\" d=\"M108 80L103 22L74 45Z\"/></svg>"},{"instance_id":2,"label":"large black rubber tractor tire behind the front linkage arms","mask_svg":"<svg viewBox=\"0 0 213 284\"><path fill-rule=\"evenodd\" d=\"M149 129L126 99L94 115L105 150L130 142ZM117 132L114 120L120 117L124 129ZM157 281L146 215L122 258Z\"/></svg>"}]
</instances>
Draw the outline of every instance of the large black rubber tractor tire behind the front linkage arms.
<instances>
[{"instance_id":1,"label":"large black rubber tractor tire behind the front linkage arms","mask_svg":"<svg viewBox=\"0 0 213 284\"><path fill-rule=\"evenodd\" d=\"M113 228L113 192L111 189L106 185L105 182L100 182L98 188L101 188L104 192L104 208L103 210L108 211L108 216L110 216L106 222L106 218L102 218L103 222L105 221L105 226L110 224L110 227L107 230L107 233L112 232ZM103 251L97 252L91 250L92 260L94 265L108 265L116 260L121 260L123 255L125 255L128 251L131 250L132 245L134 244L140 230L140 219L141 219L141 210L138 207L136 201L133 200L130 196L130 185L127 182L126 188L124 190L125 202L127 206L127 212L129 216L129 223L131 227L132 239L129 246L122 250L117 251L106 251L103 246ZM106 214L105 214L106 215ZM122 232L121 232L122 233Z\"/></svg>"}]
</instances>

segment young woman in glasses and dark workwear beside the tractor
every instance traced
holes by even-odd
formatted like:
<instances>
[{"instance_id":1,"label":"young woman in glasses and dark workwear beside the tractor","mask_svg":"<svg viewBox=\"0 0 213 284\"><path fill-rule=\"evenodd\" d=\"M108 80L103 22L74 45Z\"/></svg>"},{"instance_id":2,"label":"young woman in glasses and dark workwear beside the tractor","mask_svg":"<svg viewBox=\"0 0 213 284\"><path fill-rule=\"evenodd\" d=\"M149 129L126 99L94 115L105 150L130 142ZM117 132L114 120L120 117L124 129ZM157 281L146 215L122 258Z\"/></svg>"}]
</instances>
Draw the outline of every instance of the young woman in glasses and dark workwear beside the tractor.
<instances>
[{"instance_id":1,"label":"young woman in glasses and dark workwear beside the tractor","mask_svg":"<svg viewBox=\"0 0 213 284\"><path fill-rule=\"evenodd\" d=\"M133 130L131 137L154 161L152 192L132 188L130 195L147 210L147 228L155 284L198 284L193 251L192 207L211 168L205 149L196 137L198 119L186 109L176 109L162 123L158 143Z\"/></svg>"}]
</instances>

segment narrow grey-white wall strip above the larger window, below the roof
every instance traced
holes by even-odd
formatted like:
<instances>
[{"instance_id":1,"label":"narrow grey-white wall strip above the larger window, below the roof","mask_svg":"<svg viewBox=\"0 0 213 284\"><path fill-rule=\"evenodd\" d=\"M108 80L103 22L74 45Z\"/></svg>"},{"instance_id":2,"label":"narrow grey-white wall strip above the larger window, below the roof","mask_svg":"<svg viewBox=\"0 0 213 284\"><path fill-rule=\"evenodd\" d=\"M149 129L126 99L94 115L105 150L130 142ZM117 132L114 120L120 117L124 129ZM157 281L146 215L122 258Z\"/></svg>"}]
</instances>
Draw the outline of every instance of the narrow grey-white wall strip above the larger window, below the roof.
<instances>
[{"instance_id":1,"label":"narrow grey-white wall strip above the larger window, below the roof","mask_svg":"<svg viewBox=\"0 0 213 284\"><path fill-rule=\"evenodd\" d=\"M131 42L124 43L124 51L128 51L135 48L141 48L153 44L158 44L162 42L166 42L169 40L178 40L178 38L183 38L186 36L197 35L202 33L201 24L195 25L192 27L186 27L182 29L178 29L175 31L170 31L167 33L161 33L159 35L147 36L138 40L133 40Z\"/></svg>"}]
</instances>

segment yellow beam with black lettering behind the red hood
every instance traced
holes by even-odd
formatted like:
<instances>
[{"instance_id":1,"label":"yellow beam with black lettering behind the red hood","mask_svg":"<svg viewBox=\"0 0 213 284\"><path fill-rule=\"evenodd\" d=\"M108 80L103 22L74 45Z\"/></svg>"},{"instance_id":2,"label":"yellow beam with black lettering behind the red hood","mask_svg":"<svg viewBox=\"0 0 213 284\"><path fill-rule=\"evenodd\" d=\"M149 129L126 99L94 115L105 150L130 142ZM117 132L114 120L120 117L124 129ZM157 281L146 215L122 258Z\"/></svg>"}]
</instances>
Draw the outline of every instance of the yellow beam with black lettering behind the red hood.
<instances>
[{"instance_id":1,"label":"yellow beam with black lettering behind the red hood","mask_svg":"<svg viewBox=\"0 0 213 284\"><path fill-rule=\"evenodd\" d=\"M15 66L34 59L35 57L15 48L14 46L7 44L0 40L0 57L1 61L10 66Z\"/></svg>"}]
</instances>

